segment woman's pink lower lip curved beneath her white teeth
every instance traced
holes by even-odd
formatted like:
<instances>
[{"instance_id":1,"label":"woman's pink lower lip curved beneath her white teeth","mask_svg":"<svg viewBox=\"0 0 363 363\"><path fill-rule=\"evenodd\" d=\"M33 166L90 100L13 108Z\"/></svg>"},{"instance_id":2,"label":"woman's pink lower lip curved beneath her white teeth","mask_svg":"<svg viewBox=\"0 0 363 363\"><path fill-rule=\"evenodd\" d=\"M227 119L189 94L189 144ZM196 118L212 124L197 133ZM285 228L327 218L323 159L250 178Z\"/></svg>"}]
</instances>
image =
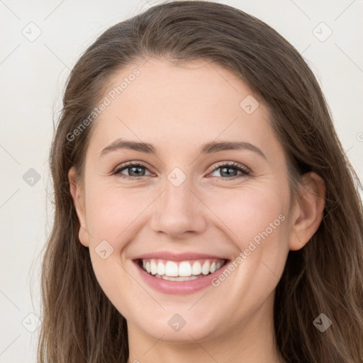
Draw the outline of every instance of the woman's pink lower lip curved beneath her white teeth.
<instances>
[{"instance_id":1,"label":"woman's pink lower lip curved beneath her white teeth","mask_svg":"<svg viewBox=\"0 0 363 363\"><path fill-rule=\"evenodd\" d=\"M141 277L145 280L145 282L149 286L164 294L175 294L175 295L192 294L196 291L205 288L208 285L211 285L212 280L215 277L217 277L222 271L224 271L223 267L226 267L227 264L229 263L228 261L226 264L223 265L223 267L220 267L220 269L213 272L213 274L208 274L205 277L199 277L198 279L189 280L189 281L169 281L148 274L139 266L137 262L135 261L133 262L140 271Z\"/></svg>"}]
</instances>

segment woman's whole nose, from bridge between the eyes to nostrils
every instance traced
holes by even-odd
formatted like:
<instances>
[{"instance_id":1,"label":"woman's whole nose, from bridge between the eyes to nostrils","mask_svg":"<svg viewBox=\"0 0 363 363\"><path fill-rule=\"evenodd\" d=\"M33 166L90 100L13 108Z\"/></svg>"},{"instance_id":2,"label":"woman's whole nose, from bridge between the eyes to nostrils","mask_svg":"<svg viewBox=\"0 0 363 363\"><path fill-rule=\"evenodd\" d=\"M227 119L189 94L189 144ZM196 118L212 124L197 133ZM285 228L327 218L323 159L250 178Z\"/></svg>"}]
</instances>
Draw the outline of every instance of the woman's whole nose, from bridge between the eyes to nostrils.
<instances>
[{"instance_id":1,"label":"woman's whole nose, from bridge between the eyes to nostrils","mask_svg":"<svg viewBox=\"0 0 363 363\"><path fill-rule=\"evenodd\" d=\"M179 168L173 169L167 175L164 191L152 218L153 230L176 237L184 232L201 232L205 228L201 203L191 191L191 180Z\"/></svg>"}]
</instances>

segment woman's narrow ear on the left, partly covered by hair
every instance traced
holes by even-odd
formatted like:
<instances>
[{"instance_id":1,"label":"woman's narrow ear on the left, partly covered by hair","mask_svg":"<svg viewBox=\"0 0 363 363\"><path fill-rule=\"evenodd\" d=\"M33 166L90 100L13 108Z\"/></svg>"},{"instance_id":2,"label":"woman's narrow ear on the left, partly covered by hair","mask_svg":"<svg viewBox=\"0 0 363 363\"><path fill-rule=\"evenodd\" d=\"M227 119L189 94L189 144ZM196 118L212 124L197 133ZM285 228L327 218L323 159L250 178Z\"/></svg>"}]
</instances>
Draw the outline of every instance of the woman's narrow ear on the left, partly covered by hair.
<instances>
[{"instance_id":1,"label":"woman's narrow ear on the left, partly covered by hair","mask_svg":"<svg viewBox=\"0 0 363 363\"><path fill-rule=\"evenodd\" d=\"M76 168L71 167L68 172L69 188L72 194L74 208L79 220L79 241L85 247L89 247L89 233L87 231L86 208L84 203L84 192L76 178Z\"/></svg>"}]
</instances>

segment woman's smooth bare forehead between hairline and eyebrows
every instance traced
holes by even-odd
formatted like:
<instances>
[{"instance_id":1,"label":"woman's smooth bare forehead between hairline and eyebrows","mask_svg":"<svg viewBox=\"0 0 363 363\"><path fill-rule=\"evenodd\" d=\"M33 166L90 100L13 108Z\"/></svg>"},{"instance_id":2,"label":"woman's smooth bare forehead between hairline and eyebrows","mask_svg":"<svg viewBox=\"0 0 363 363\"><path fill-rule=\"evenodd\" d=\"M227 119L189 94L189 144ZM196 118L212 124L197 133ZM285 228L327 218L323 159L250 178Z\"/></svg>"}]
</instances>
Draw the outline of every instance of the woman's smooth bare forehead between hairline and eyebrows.
<instances>
[{"instance_id":1,"label":"woman's smooth bare forehead between hairline and eyebrows","mask_svg":"<svg viewBox=\"0 0 363 363\"><path fill-rule=\"evenodd\" d=\"M117 138L170 149L212 140L278 148L269 113L233 72L206 60L175 64L152 58L113 74L95 120L97 150Z\"/></svg>"}]
</instances>

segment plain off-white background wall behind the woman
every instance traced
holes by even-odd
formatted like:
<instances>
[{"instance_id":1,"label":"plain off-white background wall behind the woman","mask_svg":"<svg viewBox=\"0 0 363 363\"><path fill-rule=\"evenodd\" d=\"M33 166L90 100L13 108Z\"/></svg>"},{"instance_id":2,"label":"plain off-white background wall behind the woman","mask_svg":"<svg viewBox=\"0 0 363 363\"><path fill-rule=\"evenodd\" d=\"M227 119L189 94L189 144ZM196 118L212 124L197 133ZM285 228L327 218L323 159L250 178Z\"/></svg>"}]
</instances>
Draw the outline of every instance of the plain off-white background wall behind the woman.
<instances>
[{"instance_id":1,"label":"plain off-white background wall behind the woman","mask_svg":"<svg viewBox=\"0 0 363 363\"><path fill-rule=\"evenodd\" d=\"M363 1L218 2L265 21L301 52L362 180ZM106 28L151 4L157 1L0 0L0 363L36 361L39 253L52 225L48 152L67 74Z\"/></svg>"}]
</instances>

